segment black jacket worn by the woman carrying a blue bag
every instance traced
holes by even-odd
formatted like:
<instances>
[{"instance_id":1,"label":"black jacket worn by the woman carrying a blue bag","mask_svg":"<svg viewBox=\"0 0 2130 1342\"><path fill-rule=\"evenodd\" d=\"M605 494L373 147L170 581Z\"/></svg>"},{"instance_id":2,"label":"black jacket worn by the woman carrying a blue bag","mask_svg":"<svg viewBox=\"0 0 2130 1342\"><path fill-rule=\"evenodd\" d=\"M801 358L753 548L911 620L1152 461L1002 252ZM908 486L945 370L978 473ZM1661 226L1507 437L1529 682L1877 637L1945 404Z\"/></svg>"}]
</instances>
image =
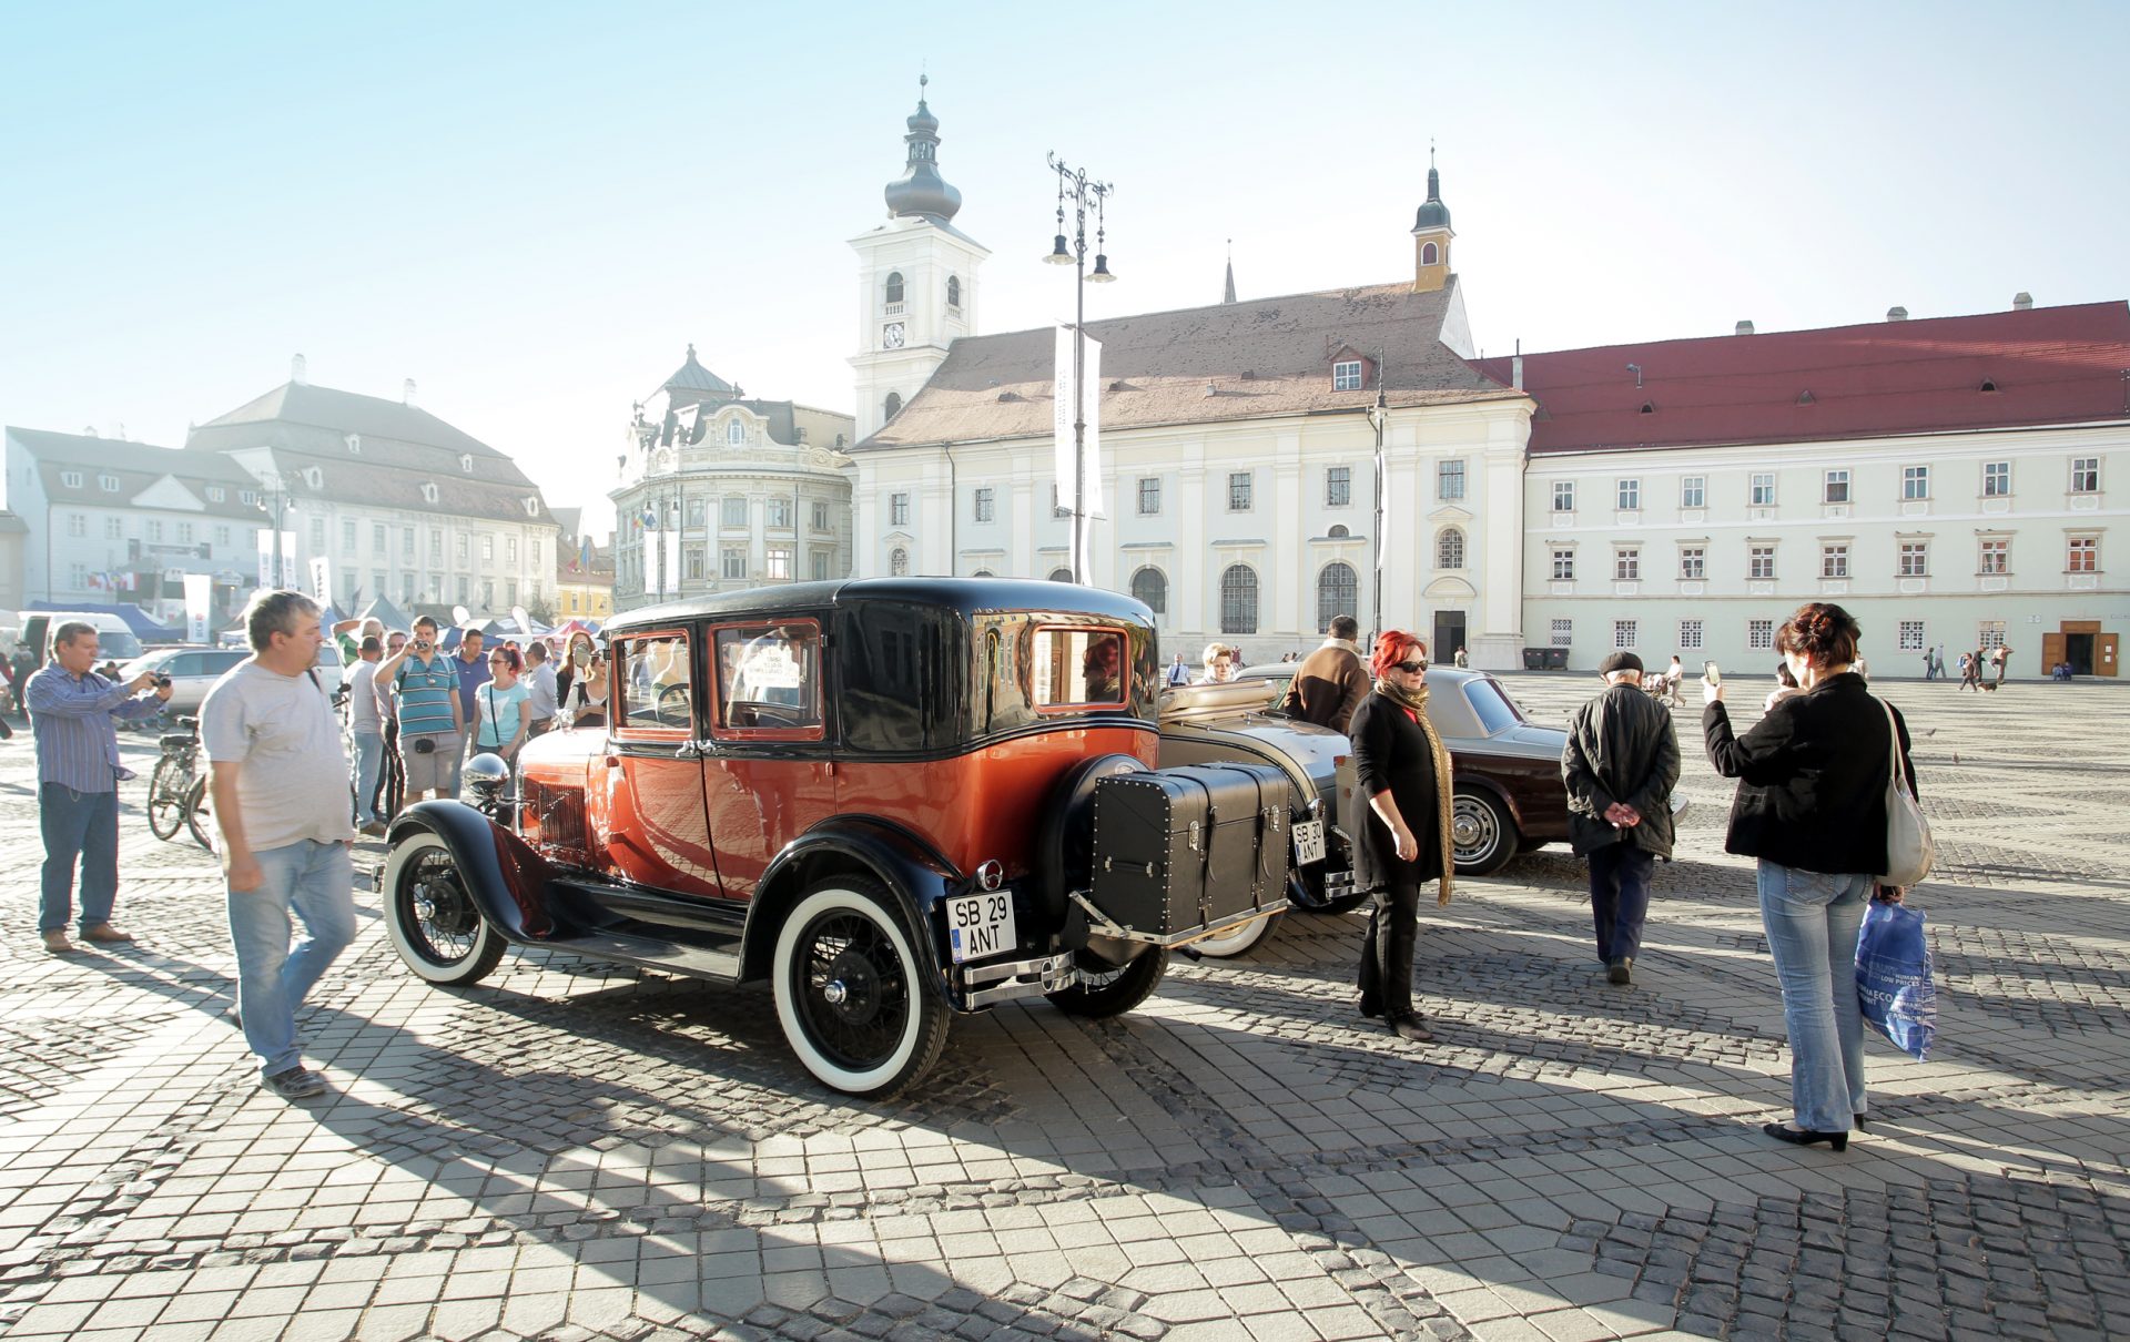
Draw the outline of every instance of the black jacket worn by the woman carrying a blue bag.
<instances>
[{"instance_id":1,"label":"black jacket worn by the woman carrying a blue bag","mask_svg":"<svg viewBox=\"0 0 2130 1342\"><path fill-rule=\"evenodd\" d=\"M1887 705L1864 677L1836 675L1781 699L1753 731L1732 735L1723 703L1702 714L1708 763L1738 780L1725 852L1836 875L1885 871ZM1908 724L1894 709L1908 788Z\"/></svg>"}]
</instances>

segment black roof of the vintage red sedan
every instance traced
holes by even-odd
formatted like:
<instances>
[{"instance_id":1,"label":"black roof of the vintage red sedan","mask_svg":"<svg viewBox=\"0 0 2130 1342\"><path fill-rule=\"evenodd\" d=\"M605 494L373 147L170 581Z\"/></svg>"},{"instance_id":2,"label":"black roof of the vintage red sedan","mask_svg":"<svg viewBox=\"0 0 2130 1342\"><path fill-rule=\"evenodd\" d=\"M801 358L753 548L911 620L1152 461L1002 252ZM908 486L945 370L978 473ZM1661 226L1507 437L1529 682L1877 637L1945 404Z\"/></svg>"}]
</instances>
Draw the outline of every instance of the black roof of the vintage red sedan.
<instances>
[{"instance_id":1,"label":"black roof of the vintage red sedan","mask_svg":"<svg viewBox=\"0 0 2130 1342\"><path fill-rule=\"evenodd\" d=\"M773 588L718 592L645 605L607 620L603 633L652 628L675 620L724 616L775 616L782 611L820 609L829 605L929 605L965 616L980 611L1059 611L1103 616L1133 624L1152 624L1154 613L1144 603L1108 588L1084 588L1069 582L1031 577L848 577L841 582L788 582Z\"/></svg>"}]
</instances>

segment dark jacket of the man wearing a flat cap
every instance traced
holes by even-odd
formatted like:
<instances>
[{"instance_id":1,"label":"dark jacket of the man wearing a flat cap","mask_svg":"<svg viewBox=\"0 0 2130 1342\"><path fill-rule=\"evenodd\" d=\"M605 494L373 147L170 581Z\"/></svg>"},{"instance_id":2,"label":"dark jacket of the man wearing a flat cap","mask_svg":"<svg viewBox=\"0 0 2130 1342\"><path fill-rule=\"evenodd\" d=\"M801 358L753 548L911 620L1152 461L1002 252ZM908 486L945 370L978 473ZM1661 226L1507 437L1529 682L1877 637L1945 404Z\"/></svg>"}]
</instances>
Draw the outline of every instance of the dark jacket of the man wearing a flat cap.
<instances>
[{"instance_id":1,"label":"dark jacket of the man wearing a flat cap","mask_svg":"<svg viewBox=\"0 0 2130 1342\"><path fill-rule=\"evenodd\" d=\"M1610 686L1568 720L1561 750L1568 784L1568 841L1576 856L1608 844L1634 844L1672 856L1672 788L1678 786L1678 737L1672 711L1640 686ZM1640 824L1615 829L1606 807L1625 801Z\"/></svg>"}]
</instances>

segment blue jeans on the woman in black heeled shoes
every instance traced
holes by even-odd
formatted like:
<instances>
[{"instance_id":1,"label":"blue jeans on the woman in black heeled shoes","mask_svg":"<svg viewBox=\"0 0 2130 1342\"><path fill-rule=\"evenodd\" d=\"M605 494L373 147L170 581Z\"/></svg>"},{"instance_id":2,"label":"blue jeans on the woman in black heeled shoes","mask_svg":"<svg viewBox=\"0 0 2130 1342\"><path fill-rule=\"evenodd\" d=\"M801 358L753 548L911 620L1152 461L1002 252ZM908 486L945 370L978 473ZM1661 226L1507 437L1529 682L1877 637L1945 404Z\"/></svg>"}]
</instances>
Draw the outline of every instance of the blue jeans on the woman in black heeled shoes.
<instances>
[{"instance_id":1,"label":"blue jeans on the woman in black heeled shoes","mask_svg":"<svg viewBox=\"0 0 2130 1342\"><path fill-rule=\"evenodd\" d=\"M1845 1133L1864 1108L1857 931L1877 878L1759 863L1759 918L1789 1025L1789 1099L1798 1127Z\"/></svg>"}]
</instances>

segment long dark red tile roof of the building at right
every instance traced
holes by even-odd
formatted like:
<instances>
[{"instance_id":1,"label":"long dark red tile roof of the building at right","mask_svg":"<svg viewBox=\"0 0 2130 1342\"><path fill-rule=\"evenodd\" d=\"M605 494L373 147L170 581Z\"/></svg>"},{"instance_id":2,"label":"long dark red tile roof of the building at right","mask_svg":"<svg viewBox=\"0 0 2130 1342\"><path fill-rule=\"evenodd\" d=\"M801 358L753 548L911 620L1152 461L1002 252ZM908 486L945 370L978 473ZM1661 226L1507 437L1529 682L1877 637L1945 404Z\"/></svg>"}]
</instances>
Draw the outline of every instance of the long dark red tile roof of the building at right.
<instances>
[{"instance_id":1,"label":"long dark red tile roof of the building at right","mask_svg":"<svg viewBox=\"0 0 2130 1342\"><path fill-rule=\"evenodd\" d=\"M1523 356L1531 454L2130 420L2126 373L2124 302Z\"/></svg>"}]
</instances>

